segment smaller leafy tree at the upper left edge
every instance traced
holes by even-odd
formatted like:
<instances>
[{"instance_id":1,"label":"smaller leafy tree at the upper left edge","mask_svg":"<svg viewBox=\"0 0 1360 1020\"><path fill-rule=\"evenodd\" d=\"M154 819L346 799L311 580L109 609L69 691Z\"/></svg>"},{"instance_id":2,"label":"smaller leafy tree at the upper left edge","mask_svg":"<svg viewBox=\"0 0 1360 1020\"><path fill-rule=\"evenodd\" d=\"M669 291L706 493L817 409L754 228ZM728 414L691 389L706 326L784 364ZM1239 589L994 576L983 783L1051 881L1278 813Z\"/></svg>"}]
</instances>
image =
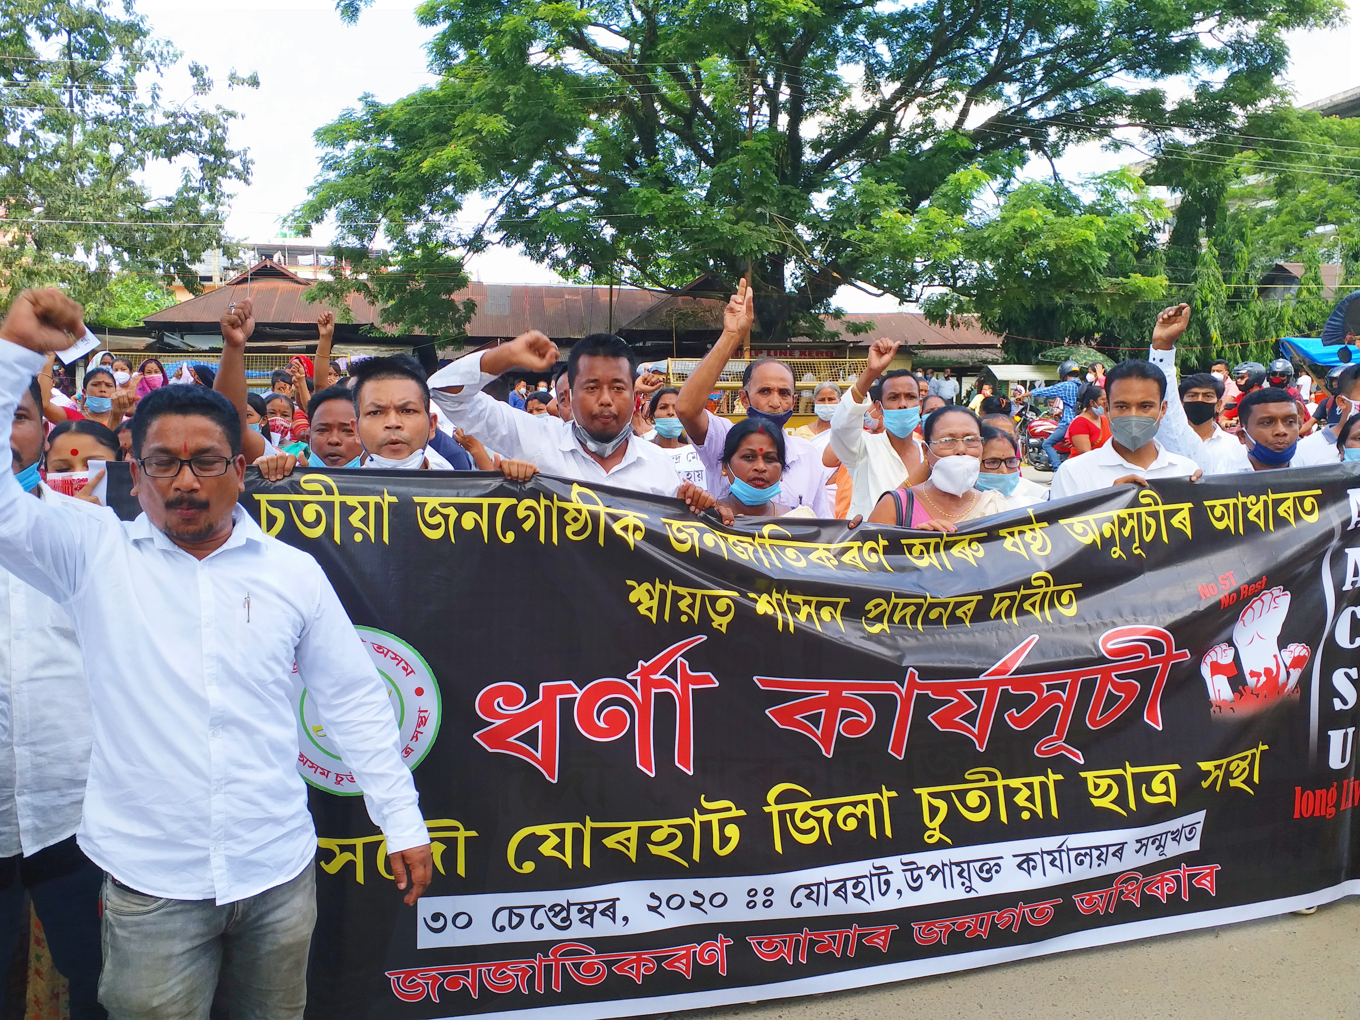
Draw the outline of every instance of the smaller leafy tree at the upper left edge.
<instances>
[{"instance_id":1,"label":"smaller leafy tree at the upper left edge","mask_svg":"<svg viewBox=\"0 0 1360 1020\"><path fill-rule=\"evenodd\" d=\"M227 144L237 116L170 103L159 79L180 53L132 12L105 0L8 0L0 7L0 299L60 283L94 320L117 306L121 272L178 276L223 248L231 181L249 160ZM212 88L190 64L196 95ZM230 84L257 87L235 71ZM154 194L144 173L180 171Z\"/></svg>"}]
</instances>

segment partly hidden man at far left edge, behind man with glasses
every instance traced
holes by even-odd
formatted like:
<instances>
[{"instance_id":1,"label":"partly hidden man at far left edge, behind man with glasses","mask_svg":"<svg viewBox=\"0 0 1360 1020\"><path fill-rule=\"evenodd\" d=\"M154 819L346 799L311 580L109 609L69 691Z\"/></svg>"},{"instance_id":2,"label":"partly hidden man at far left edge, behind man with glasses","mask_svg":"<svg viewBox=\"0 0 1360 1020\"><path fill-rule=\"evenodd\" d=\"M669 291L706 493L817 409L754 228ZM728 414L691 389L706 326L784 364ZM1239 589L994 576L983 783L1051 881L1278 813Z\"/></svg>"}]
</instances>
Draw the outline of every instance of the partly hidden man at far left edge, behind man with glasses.
<instances>
[{"instance_id":1,"label":"partly hidden man at far left edge, behind man with glasses","mask_svg":"<svg viewBox=\"0 0 1360 1020\"><path fill-rule=\"evenodd\" d=\"M14 409L10 452L31 498L99 513L39 481L42 392ZM72 1020L102 1020L99 887L103 872L76 845L90 771L90 695L71 617L57 602L0 570L0 960L29 936L33 908L65 976ZM0 994L7 991L0 975Z\"/></svg>"}]
</instances>

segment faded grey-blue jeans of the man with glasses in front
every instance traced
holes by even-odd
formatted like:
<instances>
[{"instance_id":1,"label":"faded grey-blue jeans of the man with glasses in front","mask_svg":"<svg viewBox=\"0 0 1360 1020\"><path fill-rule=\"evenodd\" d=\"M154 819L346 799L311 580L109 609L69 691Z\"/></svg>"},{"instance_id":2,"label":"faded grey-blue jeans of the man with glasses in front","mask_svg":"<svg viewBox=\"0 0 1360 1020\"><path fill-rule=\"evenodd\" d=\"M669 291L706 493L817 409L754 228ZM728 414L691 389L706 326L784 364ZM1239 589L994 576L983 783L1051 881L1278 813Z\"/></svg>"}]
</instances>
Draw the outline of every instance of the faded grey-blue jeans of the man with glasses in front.
<instances>
[{"instance_id":1,"label":"faded grey-blue jeans of the man with glasses in front","mask_svg":"<svg viewBox=\"0 0 1360 1020\"><path fill-rule=\"evenodd\" d=\"M302 1020L317 921L316 865L218 906L103 883L99 1001L113 1020Z\"/></svg>"}]
</instances>

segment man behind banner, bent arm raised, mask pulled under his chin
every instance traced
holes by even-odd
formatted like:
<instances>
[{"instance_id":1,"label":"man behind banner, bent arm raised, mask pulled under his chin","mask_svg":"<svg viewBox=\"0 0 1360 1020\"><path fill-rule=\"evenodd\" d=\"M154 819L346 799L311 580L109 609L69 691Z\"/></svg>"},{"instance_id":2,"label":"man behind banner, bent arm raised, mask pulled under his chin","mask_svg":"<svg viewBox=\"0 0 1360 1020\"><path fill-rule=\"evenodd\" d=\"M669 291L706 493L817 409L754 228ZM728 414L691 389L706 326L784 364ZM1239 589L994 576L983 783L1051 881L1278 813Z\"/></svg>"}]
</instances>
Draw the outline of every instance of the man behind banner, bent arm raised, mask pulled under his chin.
<instances>
[{"instance_id":1,"label":"man behind banner, bent arm raised, mask pulled under his chin","mask_svg":"<svg viewBox=\"0 0 1360 1020\"><path fill-rule=\"evenodd\" d=\"M502 373L545 373L556 360L558 345L534 329L446 364L430 377L430 389L434 403L458 428L507 457L529 461L545 475L675 496L695 513L714 506L711 495L691 481L680 481L665 450L634 434L636 359L622 337L592 333L571 347L566 377L570 422L525 415L481 392Z\"/></svg>"}]
</instances>

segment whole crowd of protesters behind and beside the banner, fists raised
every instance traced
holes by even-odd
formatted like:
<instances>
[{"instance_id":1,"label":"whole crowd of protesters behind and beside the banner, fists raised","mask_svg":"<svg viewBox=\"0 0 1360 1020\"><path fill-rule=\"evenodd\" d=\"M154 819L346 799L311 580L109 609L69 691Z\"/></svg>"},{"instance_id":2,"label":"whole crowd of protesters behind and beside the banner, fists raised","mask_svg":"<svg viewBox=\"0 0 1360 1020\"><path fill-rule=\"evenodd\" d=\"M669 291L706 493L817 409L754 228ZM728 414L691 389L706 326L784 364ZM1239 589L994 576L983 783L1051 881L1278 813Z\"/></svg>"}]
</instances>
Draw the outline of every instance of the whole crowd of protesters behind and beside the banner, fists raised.
<instances>
[{"instance_id":1,"label":"whole crowd of protesters behind and beside the banner, fists raised","mask_svg":"<svg viewBox=\"0 0 1360 1020\"><path fill-rule=\"evenodd\" d=\"M1152 479L1360 460L1360 366L1322 386L1288 362L1182 378L1187 306L1161 313L1146 359L1065 366L1025 394L1061 401L1051 486L1021 473L1015 394L982 385L964 403L949 370L894 369L888 340L843 392L811 389L815 420L801 428L786 428L800 384L775 358L745 364L741 420L714 413L713 390L749 341L745 282L679 388L602 333L564 363L529 332L432 375L407 355L341 364L325 311L316 356L253 393L245 301L222 318L215 370L101 354L76 394L54 354L83 332L80 316L58 291L27 291L0 326L14 460L0 481L0 627L26 628L41 651L11 654L0 679L0 962L29 891L76 1020L207 1016L215 996L231 1016L302 1015L316 840L292 766L294 664L407 903L430 880L384 685L320 567L238 506L246 465L275 481L299 465L544 472L676 498L729 525L796 515L951 532ZM144 511L131 524L99 507L91 466L118 460ZM82 654L91 645L101 653Z\"/></svg>"}]
</instances>

